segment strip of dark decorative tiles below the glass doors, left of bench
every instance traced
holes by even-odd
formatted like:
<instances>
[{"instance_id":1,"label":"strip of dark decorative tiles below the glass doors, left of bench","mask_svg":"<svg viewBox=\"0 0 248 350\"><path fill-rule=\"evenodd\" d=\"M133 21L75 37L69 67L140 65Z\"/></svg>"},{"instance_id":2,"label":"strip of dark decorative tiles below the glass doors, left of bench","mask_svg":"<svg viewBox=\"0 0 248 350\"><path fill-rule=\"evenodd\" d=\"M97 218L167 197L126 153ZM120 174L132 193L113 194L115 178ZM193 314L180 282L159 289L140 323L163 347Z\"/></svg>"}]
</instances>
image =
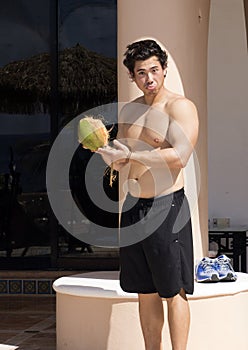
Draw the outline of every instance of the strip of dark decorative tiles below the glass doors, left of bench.
<instances>
[{"instance_id":1,"label":"strip of dark decorative tiles below the glass doors, left of bench","mask_svg":"<svg viewBox=\"0 0 248 350\"><path fill-rule=\"evenodd\" d=\"M0 295L3 294L55 294L54 279L0 279Z\"/></svg>"}]
</instances>

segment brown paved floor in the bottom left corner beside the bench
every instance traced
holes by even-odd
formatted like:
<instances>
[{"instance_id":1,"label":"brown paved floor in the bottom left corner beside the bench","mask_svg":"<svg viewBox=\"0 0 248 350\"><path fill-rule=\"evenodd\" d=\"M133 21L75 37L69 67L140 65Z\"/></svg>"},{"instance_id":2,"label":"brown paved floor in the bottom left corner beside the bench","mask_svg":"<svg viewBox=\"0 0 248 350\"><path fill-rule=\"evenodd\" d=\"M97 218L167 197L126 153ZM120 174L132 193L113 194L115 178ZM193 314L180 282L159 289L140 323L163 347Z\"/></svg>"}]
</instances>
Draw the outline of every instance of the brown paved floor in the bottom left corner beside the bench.
<instances>
[{"instance_id":1,"label":"brown paved floor in the bottom left corner beside the bench","mask_svg":"<svg viewBox=\"0 0 248 350\"><path fill-rule=\"evenodd\" d=\"M55 295L0 296L0 350L14 349L56 350Z\"/></svg>"}]
</instances>

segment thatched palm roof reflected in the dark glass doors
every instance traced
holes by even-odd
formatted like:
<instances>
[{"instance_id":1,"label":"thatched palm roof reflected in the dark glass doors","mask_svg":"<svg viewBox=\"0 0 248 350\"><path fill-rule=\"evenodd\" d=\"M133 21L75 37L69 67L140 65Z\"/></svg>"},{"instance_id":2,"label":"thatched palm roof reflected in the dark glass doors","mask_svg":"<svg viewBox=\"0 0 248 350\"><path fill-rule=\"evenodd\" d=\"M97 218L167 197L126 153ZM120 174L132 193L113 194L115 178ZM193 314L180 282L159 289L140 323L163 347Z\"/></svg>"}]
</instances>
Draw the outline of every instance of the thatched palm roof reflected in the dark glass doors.
<instances>
[{"instance_id":1,"label":"thatched palm roof reflected in the dark glass doors","mask_svg":"<svg viewBox=\"0 0 248 350\"><path fill-rule=\"evenodd\" d=\"M59 106L62 113L78 114L112 102L117 94L116 60L81 45L59 53ZM0 68L0 112L49 112L51 61L47 53L14 61Z\"/></svg>"}]
</instances>

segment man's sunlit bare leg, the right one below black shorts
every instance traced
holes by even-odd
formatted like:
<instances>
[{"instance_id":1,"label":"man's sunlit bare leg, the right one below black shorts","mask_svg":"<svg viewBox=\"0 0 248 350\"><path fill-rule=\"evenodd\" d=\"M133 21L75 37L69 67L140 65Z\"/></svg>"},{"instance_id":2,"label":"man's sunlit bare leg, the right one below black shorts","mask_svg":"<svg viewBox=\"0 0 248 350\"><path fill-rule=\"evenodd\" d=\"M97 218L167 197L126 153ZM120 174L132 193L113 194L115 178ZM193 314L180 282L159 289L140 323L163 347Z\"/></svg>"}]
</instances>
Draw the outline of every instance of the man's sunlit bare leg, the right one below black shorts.
<instances>
[{"instance_id":1,"label":"man's sunlit bare leg, the right one below black shorts","mask_svg":"<svg viewBox=\"0 0 248 350\"><path fill-rule=\"evenodd\" d=\"M173 350L186 350L190 310L187 297L183 289L173 298L166 299L168 305L168 322Z\"/></svg>"}]
</instances>

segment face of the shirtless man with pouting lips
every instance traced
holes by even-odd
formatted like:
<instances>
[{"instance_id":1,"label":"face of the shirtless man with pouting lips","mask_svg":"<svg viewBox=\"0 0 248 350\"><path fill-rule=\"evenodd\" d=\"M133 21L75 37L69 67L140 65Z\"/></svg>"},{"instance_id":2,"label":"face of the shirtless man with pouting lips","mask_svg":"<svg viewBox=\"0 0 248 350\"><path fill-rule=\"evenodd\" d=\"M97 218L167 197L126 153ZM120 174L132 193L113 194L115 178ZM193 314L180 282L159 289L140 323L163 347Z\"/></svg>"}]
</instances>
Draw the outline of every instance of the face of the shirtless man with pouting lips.
<instances>
[{"instance_id":1,"label":"face of the shirtless man with pouting lips","mask_svg":"<svg viewBox=\"0 0 248 350\"><path fill-rule=\"evenodd\" d=\"M163 69L156 56L145 61L136 61L133 79L144 95L156 95L164 84Z\"/></svg>"}]
</instances>

